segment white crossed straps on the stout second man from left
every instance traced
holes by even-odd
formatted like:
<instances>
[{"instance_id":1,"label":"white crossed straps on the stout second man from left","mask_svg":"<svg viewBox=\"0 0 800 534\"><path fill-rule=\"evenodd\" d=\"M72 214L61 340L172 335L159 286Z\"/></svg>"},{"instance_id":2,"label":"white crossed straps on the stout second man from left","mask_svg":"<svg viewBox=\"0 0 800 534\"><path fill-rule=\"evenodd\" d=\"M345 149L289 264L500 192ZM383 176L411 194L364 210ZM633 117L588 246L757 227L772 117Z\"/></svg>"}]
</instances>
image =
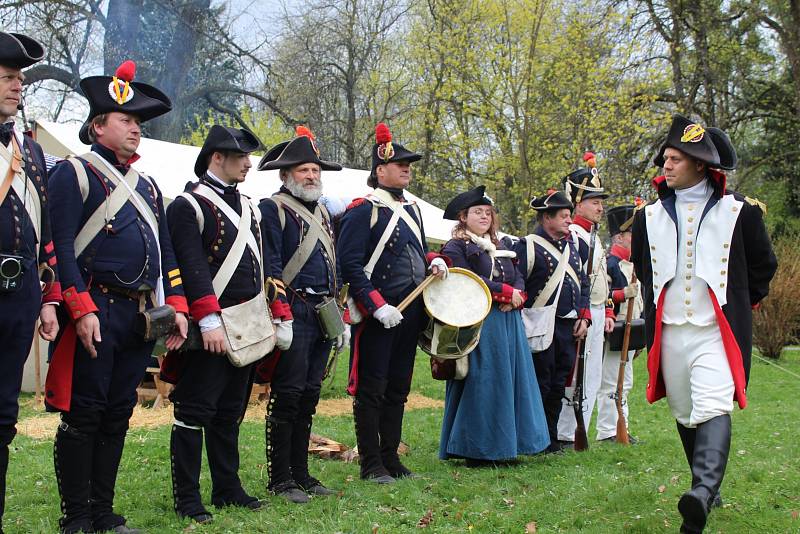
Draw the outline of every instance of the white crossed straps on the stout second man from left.
<instances>
[{"instance_id":1,"label":"white crossed straps on the stout second man from left","mask_svg":"<svg viewBox=\"0 0 800 534\"><path fill-rule=\"evenodd\" d=\"M142 195L136 190L136 185L139 182L140 176L150 185L150 187L155 189L155 186L152 184L152 182L150 182L150 179L145 175L140 175L133 167L130 167L128 172L125 173L125 176L122 176L122 174L111 163L94 152L87 152L78 158L69 157L67 160L75 169L75 174L78 180L78 188L81 191L81 197L84 201L88 196L89 180L86 175L86 169L80 162L81 159L92 164L92 166L98 172L108 178L108 180L114 184L114 190L106 197L105 201L103 201L97 207L97 209L94 210L94 213L89 216L89 218L86 220L86 223L78 231L78 235L75 237L74 242L75 257L80 256L80 254L86 250L86 247L89 246L89 243L91 243L97 234L99 234L103 228L105 228L105 226L108 224L108 221L110 221L114 216L116 216L117 213L119 213L119 210L122 209L126 202L130 201L139 215L150 227L150 230L153 232L153 237L156 240L156 249L158 250L158 259L159 262L162 261L161 239L159 238L158 233L158 219L156 218L156 214L153 213L150 204L148 204ZM162 306L164 304L162 269L159 269L158 271L155 295L156 305Z\"/></svg>"}]
</instances>

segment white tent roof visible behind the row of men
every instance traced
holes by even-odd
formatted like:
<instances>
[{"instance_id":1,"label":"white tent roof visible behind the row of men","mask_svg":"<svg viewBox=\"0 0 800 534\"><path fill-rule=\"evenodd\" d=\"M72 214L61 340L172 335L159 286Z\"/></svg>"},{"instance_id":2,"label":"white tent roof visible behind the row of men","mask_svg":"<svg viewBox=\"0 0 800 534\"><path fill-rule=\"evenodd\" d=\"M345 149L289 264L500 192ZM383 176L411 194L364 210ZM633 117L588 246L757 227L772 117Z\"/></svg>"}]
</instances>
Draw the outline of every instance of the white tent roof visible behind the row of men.
<instances>
[{"instance_id":1,"label":"white tent roof visible behind the row of men","mask_svg":"<svg viewBox=\"0 0 800 534\"><path fill-rule=\"evenodd\" d=\"M57 157L68 154L83 154L89 147L78 139L77 124L58 124L54 122L36 121L36 140L44 151ZM200 149L194 146L167 143L143 138L139 145L142 159L133 166L137 170L152 176L161 188L164 196L174 199L183 191L186 182L196 181L192 169ZM245 182L239 186L241 191L255 200L272 195L280 188L278 171L256 171L259 158L253 156L253 168ZM339 199L345 205L354 198L362 197L370 191L367 187L369 171L344 168L341 171L326 171L322 174L324 195ZM453 221L442 218L444 211L433 204L422 200L411 193L409 199L415 200L422 211L425 235L429 241L443 243L450 239Z\"/></svg>"}]
</instances>

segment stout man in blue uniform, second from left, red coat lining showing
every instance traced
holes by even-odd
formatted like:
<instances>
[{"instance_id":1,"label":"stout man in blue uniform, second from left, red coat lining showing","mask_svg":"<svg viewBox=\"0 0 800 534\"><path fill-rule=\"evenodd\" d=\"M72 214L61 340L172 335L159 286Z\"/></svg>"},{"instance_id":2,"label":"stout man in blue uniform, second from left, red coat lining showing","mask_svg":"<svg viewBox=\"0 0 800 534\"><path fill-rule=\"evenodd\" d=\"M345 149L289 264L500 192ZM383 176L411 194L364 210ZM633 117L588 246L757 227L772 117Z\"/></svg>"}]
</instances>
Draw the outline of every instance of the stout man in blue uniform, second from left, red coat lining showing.
<instances>
[{"instance_id":1,"label":"stout man in blue uniform, second from left, red coat lining showing","mask_svg":"<svg viewBox=\"0 0 800 534\"><path fill-rule=\"evenodd\" d=\"M115 76L81 80L90 110L80 138L92 149L59 163L48 187L64 306L45 401L61 412L53 456L66 533L138 532L113 512L136 387L155 344L134 326L140 312L166 303L177 312L167 348L177 348L187 331L161 192L131 167L140 123L171 104L134 82L135 68L126 61Z\"/></svg>"}]
</instances>

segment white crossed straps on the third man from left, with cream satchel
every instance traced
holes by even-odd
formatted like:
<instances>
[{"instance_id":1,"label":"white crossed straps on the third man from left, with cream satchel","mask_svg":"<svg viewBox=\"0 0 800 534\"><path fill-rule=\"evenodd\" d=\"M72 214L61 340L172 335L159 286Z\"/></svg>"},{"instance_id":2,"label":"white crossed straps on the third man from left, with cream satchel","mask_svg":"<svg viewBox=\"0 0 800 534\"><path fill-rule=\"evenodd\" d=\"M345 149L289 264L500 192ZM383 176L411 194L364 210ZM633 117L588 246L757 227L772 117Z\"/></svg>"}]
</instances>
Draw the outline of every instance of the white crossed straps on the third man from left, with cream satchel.
<instances>
[{"instance_id":1,"label":"white crossed straps on the third man from left, with cream satchel","mask_svg":"<svg viewBox=\"0 0 800 534\"><path fill-rule=\"evenodd\" d=\"M256 222L258 222L259 217L258 215L261 213L257 209L253 209L251 201L249 198L245 197L244 195L241 196L241 204L242 204L242 214L239 215L236 213L227 202L225 202L222 197L220 197L216 191L211 189L205 184L198 184L195 187L194 192L200 195L201 197L209 200L214 206L216 206L223 215L227 219L229 219L234 225L236 225L236 239L233 241L233 245L231 245L231 249L228 251L228 254L225 256L225 259L222 261L222 265L220 265L217 274L214 275L214 279L211 282L211 285L214 287L214 294L219 298L222 296L222 293L225 291L225 288L228 287L228 284L233 277L233 273L236 271L236 267L239 266L239 262L242 261L242 256L244 256L244 251L246 247L250 248L250 251L255 256L256 260L258 261L258 265L261 271L261 280L263 283L264 280L264 260L261 257L261 246L259 241L256 239L256 236L253 235L253 231L251 228L251 222L253 220L253 215L256 215ZM197 217L197 223L200 227L200 232L203 231L204 221L202 212L200 211L200 205L197 203L191 194L189 193L181 193L183 198L189 201L189 204L194 208L195 215Z\"/></svg>"}]
</instances>

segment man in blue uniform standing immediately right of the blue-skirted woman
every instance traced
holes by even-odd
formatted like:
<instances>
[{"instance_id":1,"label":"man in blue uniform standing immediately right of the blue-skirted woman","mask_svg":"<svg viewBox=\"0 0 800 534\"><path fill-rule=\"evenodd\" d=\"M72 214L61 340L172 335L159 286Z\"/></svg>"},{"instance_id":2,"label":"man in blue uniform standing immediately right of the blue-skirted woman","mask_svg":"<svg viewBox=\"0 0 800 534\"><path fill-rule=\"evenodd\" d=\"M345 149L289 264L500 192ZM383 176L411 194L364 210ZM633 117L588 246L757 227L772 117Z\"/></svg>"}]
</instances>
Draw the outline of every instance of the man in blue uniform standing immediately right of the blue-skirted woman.
<instances>
[{"instance_id":1,"label":"man in blue uniform standing immediately right of the blue-skirted woman","mask_svg":"<svg viewBox=\"0 0 800 534\"><path fill-rule=\"evenodd\" d=\"M561 450L558 444L558 418L567 378L575 363L575 342L586 335L591 323L589 281L581 267L576 243L570 237L572 202L564 193L551 190L545 195L534 197L530 206L536 210L539 224L533 235L520 239L514 245L514 251L519 258L517 266L526 277L525 291L528 293L528 300L525 307L534 305L558 268L564 247L569 248L569 263L565 266L560 294L553 290L544 302L544 305L550 305L558 296L553 341L545 350L533 354L550 433L547 452L558 452ZM532 257L528 253L531 247Z\"/></svg>"}]
</instances>

